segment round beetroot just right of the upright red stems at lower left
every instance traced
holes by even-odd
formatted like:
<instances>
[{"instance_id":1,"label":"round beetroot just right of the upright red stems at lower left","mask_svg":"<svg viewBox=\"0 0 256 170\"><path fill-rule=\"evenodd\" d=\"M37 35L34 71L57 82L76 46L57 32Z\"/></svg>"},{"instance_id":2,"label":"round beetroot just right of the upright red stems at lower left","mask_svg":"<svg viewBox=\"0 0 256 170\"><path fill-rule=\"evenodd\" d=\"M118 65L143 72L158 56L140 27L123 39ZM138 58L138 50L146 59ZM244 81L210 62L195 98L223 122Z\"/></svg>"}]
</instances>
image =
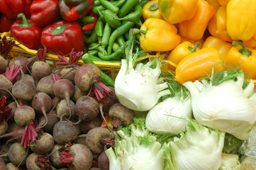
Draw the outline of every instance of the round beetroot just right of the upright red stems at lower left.
<instances>
[{"instance_id":1,"label":"round beetroot just right of the upright red stems at lower left","mask_svg":"<svg viewBox=\"0 0 256 170\"><path fill-rule=\"evenodd\" d=\"M54 147L55 141L53 140L52 135L47 132L43 132L40 137L36 138L36 145L30 146L30 149L35 154L48 154Z\"/></svg>"}]
</instances>

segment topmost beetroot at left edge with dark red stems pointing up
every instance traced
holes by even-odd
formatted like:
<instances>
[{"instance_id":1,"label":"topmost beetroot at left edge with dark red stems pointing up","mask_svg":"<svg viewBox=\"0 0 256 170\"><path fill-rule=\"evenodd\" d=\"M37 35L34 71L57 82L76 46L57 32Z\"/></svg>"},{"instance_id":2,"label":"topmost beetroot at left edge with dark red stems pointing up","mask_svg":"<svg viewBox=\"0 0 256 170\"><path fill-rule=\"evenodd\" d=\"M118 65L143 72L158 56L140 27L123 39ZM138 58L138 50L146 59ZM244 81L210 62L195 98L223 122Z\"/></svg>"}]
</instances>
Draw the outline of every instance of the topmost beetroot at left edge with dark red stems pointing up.
<instances>
[{"instance_id":1,"label":"topmost beetroot at left edge with dark red stems pointing up","mask_svg":"<svg viewBox=\"0 0 256 170\"><path fill-rule=\"evenodd\" d=\"M2 38L0 41L0 74L4 73L4 71L6 70L6 67L8 67L8 63L9 63L8 53L13 48L14 44L15 44L15 41L7 40L5 35L4 35L4 38Z\"/></svg>"}]
</instances>

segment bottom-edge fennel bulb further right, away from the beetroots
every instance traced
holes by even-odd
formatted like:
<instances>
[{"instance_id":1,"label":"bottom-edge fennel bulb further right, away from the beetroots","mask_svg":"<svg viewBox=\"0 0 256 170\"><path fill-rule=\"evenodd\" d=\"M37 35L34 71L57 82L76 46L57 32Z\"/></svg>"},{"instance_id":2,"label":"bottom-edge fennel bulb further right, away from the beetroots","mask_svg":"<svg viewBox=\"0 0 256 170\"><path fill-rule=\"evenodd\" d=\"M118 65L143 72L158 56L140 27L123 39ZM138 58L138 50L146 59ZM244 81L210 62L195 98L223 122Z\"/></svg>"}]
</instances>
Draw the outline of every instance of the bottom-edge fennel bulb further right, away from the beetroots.
<instances>
[{"instance_id":1,"label":"bottom-edge fennel bulb further right, away from the beetroots","mask_svg":"<svg viewBox=\"0 0 256 170\"><path fill-rule=\"evenodd\" d=\"M176 162L179 170L218 170L224 137L224 132L209 130L191 120L187 132L169 142L173 162Z\"/></svg>"}]
</instances>

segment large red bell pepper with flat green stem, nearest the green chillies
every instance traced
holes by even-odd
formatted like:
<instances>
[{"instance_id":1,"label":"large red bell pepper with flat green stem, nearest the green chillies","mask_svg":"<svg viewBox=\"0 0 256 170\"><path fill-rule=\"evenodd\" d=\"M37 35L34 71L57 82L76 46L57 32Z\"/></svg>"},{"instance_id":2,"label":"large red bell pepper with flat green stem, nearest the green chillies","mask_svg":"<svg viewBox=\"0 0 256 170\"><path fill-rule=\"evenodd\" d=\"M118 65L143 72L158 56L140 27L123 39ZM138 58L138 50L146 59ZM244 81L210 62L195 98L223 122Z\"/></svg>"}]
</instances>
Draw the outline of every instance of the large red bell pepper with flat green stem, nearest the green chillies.
<instances>
[{"instance_id":1,"label":"large red bell pepper with flat green stem, nearest the green chillies","mask_svg":"<svg viewBox=\"0 0 256 170\"><path fill-rule=\"evenodd\" d=\"M76 52L84 51L82 27L77 21L55 21L43 28L41 44L60 55L68 55L72 48Z\"/></svg>"}]
</instances>

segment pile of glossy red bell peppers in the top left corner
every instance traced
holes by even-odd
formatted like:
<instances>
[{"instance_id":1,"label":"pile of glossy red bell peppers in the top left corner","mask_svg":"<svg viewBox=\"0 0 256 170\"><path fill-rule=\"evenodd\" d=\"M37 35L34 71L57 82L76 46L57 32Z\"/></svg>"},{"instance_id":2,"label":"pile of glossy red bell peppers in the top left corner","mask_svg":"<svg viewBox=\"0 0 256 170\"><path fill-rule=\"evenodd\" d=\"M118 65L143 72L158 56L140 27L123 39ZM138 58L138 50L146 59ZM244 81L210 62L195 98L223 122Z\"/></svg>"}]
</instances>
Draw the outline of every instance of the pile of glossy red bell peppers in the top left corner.
<instances>
[{"instance_id":1,"label":"pile of glossy red bell peppers in the top left corner","mask_svg":"<svg viewBox=\"0 0 256 170\"><path fill-rule=\"evenodd\" d=\"M11 30L26 47L56 55L84 51L83 30L98 19L93 6L94 0L0 0L0 33Z\"/></svg>"}]
</instances>

